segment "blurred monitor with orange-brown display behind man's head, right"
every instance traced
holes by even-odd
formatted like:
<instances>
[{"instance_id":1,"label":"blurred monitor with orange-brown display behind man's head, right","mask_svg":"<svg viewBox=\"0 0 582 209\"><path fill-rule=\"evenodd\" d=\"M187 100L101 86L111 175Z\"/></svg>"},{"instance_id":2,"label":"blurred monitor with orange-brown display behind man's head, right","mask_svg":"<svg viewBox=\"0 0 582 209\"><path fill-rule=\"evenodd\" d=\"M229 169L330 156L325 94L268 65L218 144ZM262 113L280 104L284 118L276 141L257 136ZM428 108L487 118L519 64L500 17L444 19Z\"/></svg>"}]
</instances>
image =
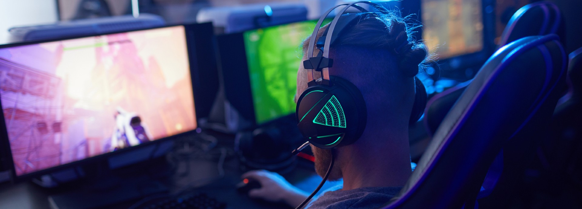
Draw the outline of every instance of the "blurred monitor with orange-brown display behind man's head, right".
<instances>
[{"instance_id":1,"label":"blurred monitor with orange-brown display behind man's head, right","mask_svg":"<svg viewBox=\"0 0 582 209\"><path fill-rule=\"evenodd\" d=\"M416 0L420 2L421 35L435 65L434 79L469 80L495 48L495 1Z\"/></svg>"}]
</instances>

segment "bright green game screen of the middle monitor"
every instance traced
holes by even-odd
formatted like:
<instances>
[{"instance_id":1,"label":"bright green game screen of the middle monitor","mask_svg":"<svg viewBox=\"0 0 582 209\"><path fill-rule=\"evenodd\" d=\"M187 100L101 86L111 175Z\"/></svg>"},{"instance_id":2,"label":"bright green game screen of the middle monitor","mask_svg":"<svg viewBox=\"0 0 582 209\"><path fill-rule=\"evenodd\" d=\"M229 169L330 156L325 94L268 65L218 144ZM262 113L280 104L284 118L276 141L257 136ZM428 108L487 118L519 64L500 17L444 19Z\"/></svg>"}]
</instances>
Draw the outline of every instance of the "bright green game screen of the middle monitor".
<instances>
[{"instance_id":1,"label":"bright green game screen of the middle monitor","mask_svg":"<svg viewBox=\"0 0 582 209\"><path fill-rule=\"evenodd\" d=\"M300 45L316 23L309 20L243 34L257 123L295 112L297 68L303 57Z\"/></svg>"}]
</instances>

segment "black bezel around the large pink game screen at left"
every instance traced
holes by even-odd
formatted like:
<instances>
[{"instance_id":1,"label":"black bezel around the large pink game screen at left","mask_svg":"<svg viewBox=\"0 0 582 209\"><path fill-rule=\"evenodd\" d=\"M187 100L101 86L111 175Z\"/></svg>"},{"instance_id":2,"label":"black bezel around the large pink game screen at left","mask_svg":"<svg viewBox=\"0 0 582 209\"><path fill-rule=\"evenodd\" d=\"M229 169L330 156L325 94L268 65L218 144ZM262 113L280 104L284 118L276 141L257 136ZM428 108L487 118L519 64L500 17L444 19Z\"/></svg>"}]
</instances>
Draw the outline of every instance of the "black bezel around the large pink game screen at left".
<instances>
[{"instance_id":1,"label":"black bezel around the large pink game screen at left","mask_svg":"<svg viewBox=\"0 0 582 209\"><path fill-rule=\"evenodd\" d=\"M188 61L189 61L189 66L190 66L189 73L190 73L190 79L192 82L192 93L193 93L192 97L194 98L194 107L193 108L194 108L194 114L195 114L194 119L196 121L196 128L194 130L189 130L186 132L175 134L173 136L168 136L168 137L164 137L164 138L153 140L153 141L147 141L145 143L141 143L141 144L138 144L138 145L132 146L132 147L123 148L123 149L118 150L118 151L113 151L113 152L109 152L109 153L95 155L93 157L88 157L88 158L85 158L83 160L69 162L66 164L57 165L55 167L51 167L51 168L47 168L47 169L42 169L39 171L30 172L30 173L25 173L23 175L16 175L15 163L14 163L14 160L12 158L12 148L10 148L10 140L8 139L8 130L6 128L6 121L4 118L4 114L1 114L0 115L0 136L2 136L2 137L0 139L0 146L2 146L2 148L3 148L2 152L6 153L4 156L6 158L6 164L7 164L6 168L9 168L9 170L10 170L9 171L10 172L10 179L12 180L12 182L13 183L23 182L25 180L30 180L30 179L38 177L38 176L47 175L51 172L77 167L77 166L80 166L83 164L88 164L90 162L96 162L98 160L106 160L108 157L112 157L113 155L116 155L116 154L127 153L129 151L134 151L134 150L137 150L139 148L151 146L152 144L162 143L164 141L176 139L178 137L186 136L189 134L195 134L197 132L196 130L200 128L200 121L199 121L200 118L198 117L198 112L196 112L196 101L197 101L196 94L194 93L194 92L196 92L196 88L195 88L195 84L193 83L195 80L194 77L196 76L196 75L194 75L193 64L196 62L194 62L194 63L192 62L193 59L194 60L196 59L196 58L194 58L194 56L197 55L196 51L193 51L194 47L196 47L195 43L194 43L194 37L196 37L194 34L196 33L196 30L189 30L189 29L194 29L194 28L199 27L199 26L202 26L202 27L210 26L210 28L212 28L212 23L172 24L172 25L161 26L161 27L148 27L148 28L140 29L140 30L123 30L123 31L117 31L115 33L95 34L93 36L64 37L64 38L56 38L56 39L51 39L51 40L26 41L26 42L17 42L17 43L13 43L13 44L0 45L0 49L2 49L2 48L10 48L10 47L19 47L19 46L23 46L23 45L41 44L41 43L45 43L45 42L72 40L72 39L76 39L76 38L87 38L87 37L95 37L95 36L105 36L105 35L109 35L109 34L128 33L128 32L133 32L133 31L144 31L144 30L151 30L151 29L163 29L166 27L176 27L176 26L184 27L184 38L186 38L186 49L187 49L187 55L189 57ZM196 66L196 68L198 68L198 66ZM200 70L200 69L196 69L196 70ZM0 100L0 107L2 107L1 100Z\"/></svg>"}]
</instances>

